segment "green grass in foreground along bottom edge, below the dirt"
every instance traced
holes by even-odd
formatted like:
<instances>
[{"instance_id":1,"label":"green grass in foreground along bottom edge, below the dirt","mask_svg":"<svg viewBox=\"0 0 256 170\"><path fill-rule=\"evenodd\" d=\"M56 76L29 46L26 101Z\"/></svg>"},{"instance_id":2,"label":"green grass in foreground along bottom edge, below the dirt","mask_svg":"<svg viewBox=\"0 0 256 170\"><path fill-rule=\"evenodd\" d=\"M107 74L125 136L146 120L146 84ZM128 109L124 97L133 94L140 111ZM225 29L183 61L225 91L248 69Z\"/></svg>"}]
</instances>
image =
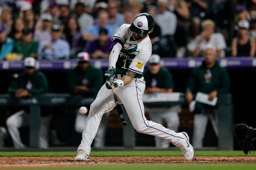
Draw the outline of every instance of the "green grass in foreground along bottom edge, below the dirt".
<instances>
[{"instance_id":1,"label":"green grass in foreground along bottom edge, below the dirt","mask_svg":"<svg viewBox=\"0 0 256 170\"><path fill-rule=\"evenodd\" d=\"M17 168L18 169L18 168ZM29 168L31 170L33 168ZM41 168L37 168L41 169ZM49 170L255 170L256 164L144 164L144 165L104 165L104 166L79 166L79 167L54 167L44 168ZM22 169L26 170L26 169Z\"/></svg>"}]
</instances>

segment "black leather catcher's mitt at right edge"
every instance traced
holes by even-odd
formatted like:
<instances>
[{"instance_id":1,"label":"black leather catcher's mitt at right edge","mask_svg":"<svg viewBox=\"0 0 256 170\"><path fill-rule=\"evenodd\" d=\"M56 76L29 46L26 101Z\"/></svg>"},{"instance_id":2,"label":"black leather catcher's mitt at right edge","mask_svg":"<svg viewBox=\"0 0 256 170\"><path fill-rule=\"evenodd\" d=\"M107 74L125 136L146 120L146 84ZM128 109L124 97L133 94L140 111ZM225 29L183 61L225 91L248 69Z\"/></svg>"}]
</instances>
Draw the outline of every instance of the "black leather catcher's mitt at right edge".
<instances>
[{"instance_id":1,"label":"black leather catcher's mitt at right edge","mask_svg":"<svg viewBox=\"0 0 256 170\"><path fill-rule=\"evenodd\" d=\"M256 140L256 129L242 123L235 125L233 131L244 154L251 153L251 148L253 148L252 143Z\"/></svg>"}]
</instances>

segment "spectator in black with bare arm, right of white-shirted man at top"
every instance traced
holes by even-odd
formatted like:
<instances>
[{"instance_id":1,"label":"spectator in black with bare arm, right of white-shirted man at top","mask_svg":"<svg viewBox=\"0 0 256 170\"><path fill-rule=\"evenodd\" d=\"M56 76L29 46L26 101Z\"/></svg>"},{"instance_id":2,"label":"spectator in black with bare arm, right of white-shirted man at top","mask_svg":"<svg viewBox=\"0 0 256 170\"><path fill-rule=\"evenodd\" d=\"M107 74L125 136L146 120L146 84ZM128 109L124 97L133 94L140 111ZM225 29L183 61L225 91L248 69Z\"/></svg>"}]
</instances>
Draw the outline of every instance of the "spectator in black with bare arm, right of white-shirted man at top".
<instances>
[{"instance_id":1,"label":"spectator in black with bare arm, right of white-shirted man at top","mask_svg":"<svg viewBox=\"0 0 256 170\"><path fill-rule=\"evenodd\" d=\"M189 19L188 5L184 0L172 0L174 14L177 17L177 28L175 32L175 42L177 43L177 58L182 58L186 53L187 37L189 34L187 21Z\"/></svg>"}]
</instances>

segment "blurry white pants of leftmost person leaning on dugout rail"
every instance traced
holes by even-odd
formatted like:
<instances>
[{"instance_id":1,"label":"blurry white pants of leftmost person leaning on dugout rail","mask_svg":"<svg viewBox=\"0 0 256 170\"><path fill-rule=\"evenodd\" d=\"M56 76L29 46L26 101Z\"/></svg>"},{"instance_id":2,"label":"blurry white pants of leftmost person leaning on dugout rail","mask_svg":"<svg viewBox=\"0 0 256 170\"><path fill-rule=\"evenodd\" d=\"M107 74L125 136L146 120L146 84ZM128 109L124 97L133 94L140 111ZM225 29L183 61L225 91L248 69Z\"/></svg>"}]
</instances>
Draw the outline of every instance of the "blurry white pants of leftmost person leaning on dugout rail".
<instances>
[{"instance_id":1,"label":"blurry white pants of leftmost person leaning on dugout rail","mask_svg":"<svg viewBox=\"0 0 256 170\"><path fill-rule=\"evenodd\" d=\"M42 117L39 131L39 148L48 148L48 130L51 122L51 116ZM15 148L25 148L21 142L19 128L29 125L29 114L24 110L20 110L11 115L6 120L6 126L12 137L12 142Z\"/></svg>"}]
</instances>

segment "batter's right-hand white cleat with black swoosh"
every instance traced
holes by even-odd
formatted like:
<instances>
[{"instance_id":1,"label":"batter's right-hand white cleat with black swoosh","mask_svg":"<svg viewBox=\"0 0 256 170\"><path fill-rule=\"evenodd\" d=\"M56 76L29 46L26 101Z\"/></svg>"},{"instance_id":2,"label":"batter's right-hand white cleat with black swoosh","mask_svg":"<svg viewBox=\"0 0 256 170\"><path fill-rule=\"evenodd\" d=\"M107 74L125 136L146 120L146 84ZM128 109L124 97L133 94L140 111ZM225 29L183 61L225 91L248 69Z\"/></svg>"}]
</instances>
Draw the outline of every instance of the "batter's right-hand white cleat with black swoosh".
<instances>
[{"instance_id":1,"label":"batter's right-hand white cleat with black swoosh","mask_svg":"<svg viewBox=\"0 0 256 170\"><path fill-rule=\"evenodd\" d=\"M180 150L184 154L184 156L187 160L192 160L194 158L194 148L189 143L188 134L186 132L181 132L181 133L184 135L185 140L184 140L183 144L180 146Z\"/></svg>"}]
</instances>

